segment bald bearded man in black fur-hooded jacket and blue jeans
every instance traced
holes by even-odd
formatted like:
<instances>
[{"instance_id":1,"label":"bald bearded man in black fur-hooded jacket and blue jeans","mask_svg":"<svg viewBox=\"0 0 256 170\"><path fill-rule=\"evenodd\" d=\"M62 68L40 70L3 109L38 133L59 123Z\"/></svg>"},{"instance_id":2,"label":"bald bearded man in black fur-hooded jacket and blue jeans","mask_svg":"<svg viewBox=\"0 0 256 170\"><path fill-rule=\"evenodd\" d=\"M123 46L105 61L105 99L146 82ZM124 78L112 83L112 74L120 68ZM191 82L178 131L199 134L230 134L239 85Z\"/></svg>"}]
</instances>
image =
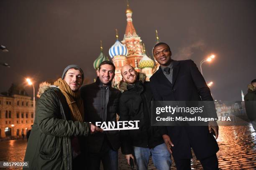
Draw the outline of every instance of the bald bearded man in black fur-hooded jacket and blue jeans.
<instances>
[{"instance_id":1,"label":"bald bearded man in black fur-hooded jacket and blue jeans","mask_svg":"<svg viewBox=\"0 0 256 170\"><path fill-rule=\"evenodd\" d=\"M152 156L153 163L158 170L168 170L171 166L171 155L159 133L160 129L151 126L151 94L149 82L145 82L146 75L137 74L131 65L125 65L120 82L122 93L119 101L120 121L139 120L138 130L122 130L121 149L128 164L135 156L137 168L147 170L148 160Z\"/></svg>"}]
</instances>

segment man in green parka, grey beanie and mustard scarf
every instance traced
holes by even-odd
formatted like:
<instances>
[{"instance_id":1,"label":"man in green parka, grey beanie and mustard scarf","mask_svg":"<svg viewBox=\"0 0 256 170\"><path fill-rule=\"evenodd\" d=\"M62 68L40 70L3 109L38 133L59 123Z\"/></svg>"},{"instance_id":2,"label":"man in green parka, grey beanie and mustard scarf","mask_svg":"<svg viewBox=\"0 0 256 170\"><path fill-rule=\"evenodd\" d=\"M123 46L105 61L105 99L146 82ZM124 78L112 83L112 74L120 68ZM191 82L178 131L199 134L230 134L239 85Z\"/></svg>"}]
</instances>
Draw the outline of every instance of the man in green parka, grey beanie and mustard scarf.
<instances>
[{"instance_id":1,"label":"man in green parka, grey beanie and mustard scarf","mask_svg":"<svg viewBox=\"0 0 256 170\"><path fill-rule=\"evenodd\" d=\"M79 88L84 73L78 65L69 65L54 85L41 83L36 117L24 161L31 170L72 170L82 160L78 136L102 132L84 122L84 107Z\"/></svg>"}]
</instances>

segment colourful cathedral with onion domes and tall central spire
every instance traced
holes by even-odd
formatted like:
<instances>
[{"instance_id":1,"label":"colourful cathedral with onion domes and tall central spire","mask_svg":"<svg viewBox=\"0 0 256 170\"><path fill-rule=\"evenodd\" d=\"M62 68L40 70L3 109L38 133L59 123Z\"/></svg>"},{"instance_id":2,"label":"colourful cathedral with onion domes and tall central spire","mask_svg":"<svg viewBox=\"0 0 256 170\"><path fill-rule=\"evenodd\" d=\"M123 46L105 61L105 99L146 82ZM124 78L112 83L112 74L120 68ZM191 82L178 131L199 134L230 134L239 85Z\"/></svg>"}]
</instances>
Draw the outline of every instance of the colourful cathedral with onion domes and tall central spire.
<instances>
[{"instance_id":1,"label":"colourful cathedral with onion domes and tall central spire","mask_svg":"<svg viewBox=\"0 0 256 170\"><path fill-rule=\"evenodd\" d=\"M118 39L118 32L116 30L116 41L108 51L110 59L103 54L103 48L101 43L101 52L99 57L94 61L93 67L98 69L100 63L105 60L112 60L115 65L115 77L113 79L113 87L118 87L118 83L122 80L121 68L124 65L131 65L137 72L143 72L146 74L148 81L153 73L158 70L159 63L154 60L154 57L148 57L146 55L145 46L142 43L141 37L138 36L133 26L132 10L127 5L125 11L127 17L127 26L125 35L122 41ZM159 37L156 31L156 43L159 42Z\"/></svg>"}]
</instances>

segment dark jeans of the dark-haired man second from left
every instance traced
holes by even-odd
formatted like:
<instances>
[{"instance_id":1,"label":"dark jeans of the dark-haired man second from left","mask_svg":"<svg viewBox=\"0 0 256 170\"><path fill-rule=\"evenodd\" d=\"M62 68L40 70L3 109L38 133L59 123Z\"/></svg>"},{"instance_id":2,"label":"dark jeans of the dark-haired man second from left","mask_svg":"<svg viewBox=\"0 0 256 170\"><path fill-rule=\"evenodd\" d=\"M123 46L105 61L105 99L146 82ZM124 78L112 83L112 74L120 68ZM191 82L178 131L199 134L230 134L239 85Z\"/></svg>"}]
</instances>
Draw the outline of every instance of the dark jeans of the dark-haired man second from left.
<instances>
[{"instance_id":1,"label":"dark jeans of the dark-haired man second from left","mask_svg":"<svg viewBox=\"0 0 256 170\"><path fill-rule=\"evenodd\" d=\"M88 170L100 170L100 161L104 170L118 169L118 151L110 147L107 139L104 140L100 153L89 153L88 160Z\"/></svg>"}]
</instances>

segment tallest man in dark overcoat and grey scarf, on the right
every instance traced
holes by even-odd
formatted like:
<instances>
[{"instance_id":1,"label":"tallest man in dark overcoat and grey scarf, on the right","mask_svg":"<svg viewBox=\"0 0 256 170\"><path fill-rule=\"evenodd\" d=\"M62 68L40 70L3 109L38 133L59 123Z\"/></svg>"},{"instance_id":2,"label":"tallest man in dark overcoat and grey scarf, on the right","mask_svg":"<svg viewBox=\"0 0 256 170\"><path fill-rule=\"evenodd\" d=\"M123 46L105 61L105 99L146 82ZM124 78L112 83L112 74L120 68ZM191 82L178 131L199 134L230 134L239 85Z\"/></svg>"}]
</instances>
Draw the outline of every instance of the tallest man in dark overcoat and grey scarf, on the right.
<instances>
[{"instance_id":1,"label":"tallest man in dark overcoat and grey scarf, on the right","mask_svg":"<svg viewBox=\"0 0 256 170\"><path fill-rule=\"evenodd\" d=\"M150 78L151 90L156 101L212 101L209 87L192 60L175 61L171 58L169 45L159 42L153 48L153 55L160 64ZM218 137L218 125L168 126L168 135L163 135L167 145L174 145L172 154L178 170L188 170L192 158L191 148L205 170L217 170L216 153L218 144L212 131Z\"/></svg>"}]
</instances>

